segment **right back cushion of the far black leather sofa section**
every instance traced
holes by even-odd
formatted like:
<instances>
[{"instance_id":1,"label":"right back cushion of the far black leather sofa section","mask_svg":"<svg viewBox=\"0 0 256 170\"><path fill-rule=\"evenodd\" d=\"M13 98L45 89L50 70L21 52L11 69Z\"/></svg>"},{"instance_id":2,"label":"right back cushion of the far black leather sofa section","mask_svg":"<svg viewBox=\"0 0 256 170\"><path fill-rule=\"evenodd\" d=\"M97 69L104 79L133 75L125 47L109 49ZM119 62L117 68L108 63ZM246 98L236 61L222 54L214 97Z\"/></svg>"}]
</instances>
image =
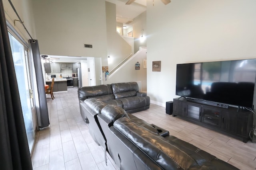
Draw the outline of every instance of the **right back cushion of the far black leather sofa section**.
<instances>
[{"instance_id":1,"label":"right back cushion of the far black leather sofa section","mask_svg":"<svg viewBox=\"0 0 256 170\"><path fill-rule=\"evenodd\" d=\"M116 99L136 96L136 92L139 91L139 86L136 82L112 83L111 87Z\"/></svg>"}]
</instances>

